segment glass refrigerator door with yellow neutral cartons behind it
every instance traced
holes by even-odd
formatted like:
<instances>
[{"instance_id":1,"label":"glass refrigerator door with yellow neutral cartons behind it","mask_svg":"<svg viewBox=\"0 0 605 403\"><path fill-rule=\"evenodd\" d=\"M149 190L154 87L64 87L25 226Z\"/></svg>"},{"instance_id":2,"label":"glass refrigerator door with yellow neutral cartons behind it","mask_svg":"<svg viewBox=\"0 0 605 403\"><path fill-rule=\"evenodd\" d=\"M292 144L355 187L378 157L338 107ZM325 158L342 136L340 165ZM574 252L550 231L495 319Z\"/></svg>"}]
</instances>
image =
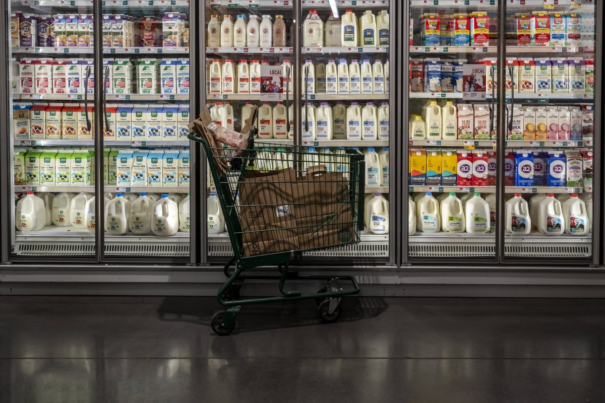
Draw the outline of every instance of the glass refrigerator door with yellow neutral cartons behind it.
<instances>
[{"instance_id":1,"label":"glass refrigerator door with yellow neutral cartons behind it","mask_svg":"<svg viewBox=\"0 0 605 403\"><path fill-rule=\"evenodd\" d=\"M404 254L410 262L494 262L497 6L412 0L408 19Z\"/></svg>"}]
</instances>

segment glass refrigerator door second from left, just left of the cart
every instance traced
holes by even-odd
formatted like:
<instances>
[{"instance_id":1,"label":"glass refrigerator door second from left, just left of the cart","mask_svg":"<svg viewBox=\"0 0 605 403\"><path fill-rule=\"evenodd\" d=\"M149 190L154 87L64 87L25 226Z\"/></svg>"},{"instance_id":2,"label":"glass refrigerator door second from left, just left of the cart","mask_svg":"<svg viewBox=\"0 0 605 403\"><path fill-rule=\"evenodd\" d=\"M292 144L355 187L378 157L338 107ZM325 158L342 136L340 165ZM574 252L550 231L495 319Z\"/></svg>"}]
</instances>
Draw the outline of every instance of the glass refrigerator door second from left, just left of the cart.
<instances>
[{"instance_id":1,"label":"glass refrigerator door second from left, just left of the cart","mask_svg":"<svg viewBox=\"0 0 605 403\"><path fill-rule=\"evenodd\" d=\"M189 1L105 2L104 256L189 256Z\"/></svg>"}]
</instances>

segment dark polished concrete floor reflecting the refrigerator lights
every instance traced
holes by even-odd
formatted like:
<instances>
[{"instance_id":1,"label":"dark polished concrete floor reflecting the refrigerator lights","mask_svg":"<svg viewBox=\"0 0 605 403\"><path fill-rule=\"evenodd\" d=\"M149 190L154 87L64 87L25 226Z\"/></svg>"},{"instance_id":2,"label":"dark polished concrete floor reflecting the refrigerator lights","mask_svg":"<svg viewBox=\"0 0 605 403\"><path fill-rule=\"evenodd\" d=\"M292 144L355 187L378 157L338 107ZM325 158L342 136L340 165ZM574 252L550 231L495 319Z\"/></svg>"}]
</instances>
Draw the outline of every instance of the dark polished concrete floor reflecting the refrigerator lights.
<instances>
[{"instance_id":1,"label":"dark polished concrete floor reflecting the refrigerator lights","mask_svg":"<svg viewBox=\"0 0 605 403\"><path fill-rule=\"evenodd\" d=\"M0 402L603 402L605 300L0 297Z\"/></svg>"}]
</instances>

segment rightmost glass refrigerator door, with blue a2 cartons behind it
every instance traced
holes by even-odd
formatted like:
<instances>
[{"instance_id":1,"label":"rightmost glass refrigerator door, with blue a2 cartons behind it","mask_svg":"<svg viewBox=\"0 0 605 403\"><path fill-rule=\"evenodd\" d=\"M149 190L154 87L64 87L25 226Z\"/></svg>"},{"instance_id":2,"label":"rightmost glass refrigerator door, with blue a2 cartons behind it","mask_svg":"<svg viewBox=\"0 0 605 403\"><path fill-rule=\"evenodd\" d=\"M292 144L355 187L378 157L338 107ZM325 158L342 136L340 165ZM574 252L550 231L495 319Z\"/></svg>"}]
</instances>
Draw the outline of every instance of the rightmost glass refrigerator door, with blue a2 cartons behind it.
<instances>
[{"instance_id":1,"label":"rightmost glass refrigerator door, with blue a2 cartons behind it","mask_svg":"<svg viewBox=\"0 0 605 403\"><path fill-rule=\"evenodd\" d=\"M595 3L506 4L505 260L593 256Z\"/></svg>"}]
</instances>

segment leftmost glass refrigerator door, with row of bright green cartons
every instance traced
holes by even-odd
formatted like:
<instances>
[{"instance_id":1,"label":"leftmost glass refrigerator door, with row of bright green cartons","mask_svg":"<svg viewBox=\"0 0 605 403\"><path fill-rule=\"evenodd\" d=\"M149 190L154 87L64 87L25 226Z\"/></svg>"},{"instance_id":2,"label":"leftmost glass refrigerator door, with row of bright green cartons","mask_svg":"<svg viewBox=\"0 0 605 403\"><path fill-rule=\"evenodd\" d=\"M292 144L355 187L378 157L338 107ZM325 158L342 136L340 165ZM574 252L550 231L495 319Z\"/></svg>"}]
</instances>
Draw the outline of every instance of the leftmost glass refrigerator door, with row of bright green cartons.
<instances>
[{"instance_id":1,"label":"leftmost glass refrigerator door, with row of bright green cartons","mask_svg":"<svg viewBox=\"0 0 605 403\"><path fill-rule=\"evenodd\" d=\"M94 258L93 4L10 1L7 15L11 252Z\"/></svg>"}]
</instances>

